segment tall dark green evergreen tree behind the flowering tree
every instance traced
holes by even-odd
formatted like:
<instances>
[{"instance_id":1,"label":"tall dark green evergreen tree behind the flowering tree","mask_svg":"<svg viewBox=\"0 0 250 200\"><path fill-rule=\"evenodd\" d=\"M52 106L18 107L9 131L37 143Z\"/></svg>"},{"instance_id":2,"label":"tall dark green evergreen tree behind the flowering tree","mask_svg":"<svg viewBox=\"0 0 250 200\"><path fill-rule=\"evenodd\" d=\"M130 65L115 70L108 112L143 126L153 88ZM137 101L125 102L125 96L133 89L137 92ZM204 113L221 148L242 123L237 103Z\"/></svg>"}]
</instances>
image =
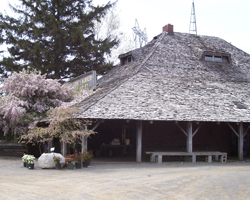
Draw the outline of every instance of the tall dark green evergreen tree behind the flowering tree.
<instances>
[{"instance_id":1,"label":"tall dark green evergreen tree behind the flowering tree","mask_svg":"<svg viewBox=\"0 0 250 200\"><path fill-rule=\"evenodd\" d=\"M117 38L97 39L94 24L114 5L93 6L92 0L20 0L15 17L0 14L0 44L9 55L0 61L5 76L23 68L66 79L90 70L105 73L112 63L104 56Z\"/></svg>"}]
</instances>

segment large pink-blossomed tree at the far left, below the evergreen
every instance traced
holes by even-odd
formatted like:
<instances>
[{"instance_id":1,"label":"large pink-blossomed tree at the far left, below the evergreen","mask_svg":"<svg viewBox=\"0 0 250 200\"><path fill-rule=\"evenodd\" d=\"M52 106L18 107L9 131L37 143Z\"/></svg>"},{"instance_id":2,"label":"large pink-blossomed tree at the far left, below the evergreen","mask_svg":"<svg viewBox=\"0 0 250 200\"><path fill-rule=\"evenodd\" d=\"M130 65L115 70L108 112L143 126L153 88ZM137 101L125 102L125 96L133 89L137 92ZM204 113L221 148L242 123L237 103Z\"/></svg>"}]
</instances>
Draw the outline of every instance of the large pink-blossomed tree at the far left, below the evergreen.
<instances>
[{"instance_id":1,"label":"large pink-blossomed tree at the far left, below the evergreen","mask_svg":"<svg viewBox=\"0 0 250 200\"><path fill-rule=\"evenodd\" d=\"M5 135L26 133L50 108L73 99L72 88L25 69L4 79L1 93L0 126Z\"/></svg>"}]
</instances>

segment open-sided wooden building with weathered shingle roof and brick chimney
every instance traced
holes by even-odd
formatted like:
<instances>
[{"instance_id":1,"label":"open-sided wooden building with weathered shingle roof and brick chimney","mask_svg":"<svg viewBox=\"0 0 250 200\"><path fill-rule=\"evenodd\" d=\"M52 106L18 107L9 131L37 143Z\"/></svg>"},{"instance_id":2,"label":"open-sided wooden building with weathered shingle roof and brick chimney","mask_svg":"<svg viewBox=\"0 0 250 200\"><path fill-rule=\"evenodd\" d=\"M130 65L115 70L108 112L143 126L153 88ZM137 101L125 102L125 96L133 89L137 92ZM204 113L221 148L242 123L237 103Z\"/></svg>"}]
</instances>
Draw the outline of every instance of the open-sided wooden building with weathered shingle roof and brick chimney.
<instances>
[{"instance_id":1,"label":"open-sided wooden building with weathered shingle roof and brick chimney","mask_svg":"<svg viewBox=\"0 0 250 200\"><path fill-rule=\"evenodd\" d=\"M163 27L147 45L119 56L75 106L98 133L86 138L99 156L147 152L249 155L250 55L218 37Z\"/></svg>"}]
</instances>

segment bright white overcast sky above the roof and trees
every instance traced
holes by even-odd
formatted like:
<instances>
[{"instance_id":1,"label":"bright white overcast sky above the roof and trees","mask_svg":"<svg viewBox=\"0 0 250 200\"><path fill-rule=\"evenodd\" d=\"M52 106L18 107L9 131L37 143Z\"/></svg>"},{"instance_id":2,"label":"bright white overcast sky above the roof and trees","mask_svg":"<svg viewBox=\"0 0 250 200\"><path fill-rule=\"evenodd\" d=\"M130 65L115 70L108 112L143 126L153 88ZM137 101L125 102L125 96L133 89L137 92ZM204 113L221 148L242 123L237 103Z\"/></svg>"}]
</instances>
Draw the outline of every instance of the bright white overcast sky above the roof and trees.
<instances>
[{"instance_id":1,"label":"bright white overcast sky above the roof and trees","mask_svg":"<svg viewBox=\"0 0 250 200\"><path fill-rule=\"evenodd\" d=\"M112 0L113 1L113 0ZM17 0L10 0L11 4ZM93 0L105 4L108 0ZM195 0L198 35L217 36L250 54L250 0ZM8 2L1 1L0 12ZM192 0L118 0L122 31L131 33L138 20L149 41L168 23L175 32L189 32Z\"/></svg>"}]
</instances>

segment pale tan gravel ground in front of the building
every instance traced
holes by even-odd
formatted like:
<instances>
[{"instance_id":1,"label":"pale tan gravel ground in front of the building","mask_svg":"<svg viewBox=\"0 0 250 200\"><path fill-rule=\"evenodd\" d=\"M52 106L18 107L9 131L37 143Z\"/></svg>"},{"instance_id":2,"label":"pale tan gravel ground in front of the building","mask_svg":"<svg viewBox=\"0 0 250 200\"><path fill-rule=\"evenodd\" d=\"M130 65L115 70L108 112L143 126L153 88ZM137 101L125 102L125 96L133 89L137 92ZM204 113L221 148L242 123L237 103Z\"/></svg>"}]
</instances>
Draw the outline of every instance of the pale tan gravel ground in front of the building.
<instances>
[{"instance_id":1,"label":"pale tan gravel ground in front of the building","mask_svg":"<svg viewBox=\"0 0 250 200\"><path fill-rule=\"evenodd\" d=\"M250 199L250 162L93 160L82 169L23 167L0 157L0 199Z\"/></svg>"}]
</instances>

